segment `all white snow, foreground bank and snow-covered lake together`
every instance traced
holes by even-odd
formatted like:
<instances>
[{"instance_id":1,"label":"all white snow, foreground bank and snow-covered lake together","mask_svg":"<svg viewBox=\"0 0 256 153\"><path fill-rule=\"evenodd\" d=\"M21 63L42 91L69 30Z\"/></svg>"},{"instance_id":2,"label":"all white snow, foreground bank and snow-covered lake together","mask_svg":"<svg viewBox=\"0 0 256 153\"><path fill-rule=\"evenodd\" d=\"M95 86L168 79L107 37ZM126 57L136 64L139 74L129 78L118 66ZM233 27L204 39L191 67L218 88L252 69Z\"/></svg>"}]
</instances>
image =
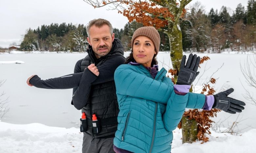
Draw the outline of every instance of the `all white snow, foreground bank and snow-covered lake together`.
<instances>
[{"instance_id":1,"label":"all white snow, foreground bank and snow-covered lake together","mask_svg":"<svg viewBox=\"0 0 256 153\"><path fill-rule=\"evenodd\" d=\"M29 87L26 80L31 75L42 79L63 76L73 73L77 60L86 56L77 54L1 54L0 80L6 82L0 87L0 93L9 97L10 111L0 122L0 153L2 152L81 152L82 134L79 133L80 110L71 105L72 90L47 90ZM127 56L128 53L125 53ZM188 54L186 54L188 55ZM203 57L207 54L198 54ZM218 70L213 77L218 78L215 86L217 92L232 87L235 91L231 97L245 101L243 94L247 88L255 96L255 89L245 83L240 70L240 63L246 62L252 54L209 54L208 60L199 69L197 86L202 86L207 78ZM19 61L15 64L6 61ZM159 66L168 68L171 65L169 53L158 54ZM18 62L18 63L19 63ZM205 71L206 70L206 71ZM205 72L204 72L205 71ZM204 73L203 73L204 72ZM203 76L201 76L203 74ZM224 85L224 86L223 86ZM243 85L243 86L242 86ZM200 92L200 91L198 91ZM245 101L246 102L246 101ZM230 115L220 112L213 120L216 122L209 137L210 142L200 144L181 144L181 130L174 132L172 153L185 153L188 150L196 153L236 153L256 152L253 146L256 136L256 106L246 103L245 110L240 114ZM238 122L235 131L238 135L220 133Z\"/></svg>"}]
</instances>

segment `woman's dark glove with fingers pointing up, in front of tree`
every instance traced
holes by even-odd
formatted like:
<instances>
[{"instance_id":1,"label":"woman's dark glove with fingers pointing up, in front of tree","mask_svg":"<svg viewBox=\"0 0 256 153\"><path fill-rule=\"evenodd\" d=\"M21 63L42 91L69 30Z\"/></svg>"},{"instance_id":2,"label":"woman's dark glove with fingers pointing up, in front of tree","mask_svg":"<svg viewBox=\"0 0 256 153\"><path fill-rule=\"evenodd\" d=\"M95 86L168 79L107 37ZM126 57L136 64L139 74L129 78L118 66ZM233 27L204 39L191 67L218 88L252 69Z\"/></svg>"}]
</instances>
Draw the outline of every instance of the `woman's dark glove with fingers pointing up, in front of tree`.
<instances>
[{"instance_id":1,"label":"woman's dark glove with fingers pointing up, in front of tree","mask_svg":"<svg viewBox=\"0 0 256 153\"><path fill-rule=\"evenodd\" d=\"M178 74L177 84L181 85L191 85L194 82L196 76L198 76L199 72L197 69L200 63L200 57L197 57L196 54L190 54L187 63L185 65L186 55L183 55L181 60L180 72Z\"/></svg>"}]
</instances>

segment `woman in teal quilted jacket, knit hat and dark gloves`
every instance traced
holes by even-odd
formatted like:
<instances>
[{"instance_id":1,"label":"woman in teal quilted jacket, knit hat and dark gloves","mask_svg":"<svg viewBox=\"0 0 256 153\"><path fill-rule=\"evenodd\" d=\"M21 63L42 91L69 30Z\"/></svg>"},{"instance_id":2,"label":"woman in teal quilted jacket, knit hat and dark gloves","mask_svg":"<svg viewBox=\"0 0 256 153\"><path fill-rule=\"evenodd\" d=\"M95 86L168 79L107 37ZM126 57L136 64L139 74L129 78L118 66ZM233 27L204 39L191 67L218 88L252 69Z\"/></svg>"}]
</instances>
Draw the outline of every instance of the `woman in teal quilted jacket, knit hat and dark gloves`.
<instances>
[{"instance_id":1,"label":"woman in teal quilted jacket, knit hat and dark gloves","mask_svg":"<svg viewBox=\"0 0 256 153\"><path fill-rule=\"evenodd\" d=\"M186 57L183 56L177 81L179 85L174 85L166 77L164 68L158 71L156 56L159 46L160 36L154 27L137 29L132 37L128 64L120 65L115 71L120 110L114 138L115 152L170 153L172 130L179 124L185 108L210 110L216 105L214 100L222 96L217 94L214 98L212 95L188 93L198 75L200 61L200 57L192 54L186 65ZM243 109L239 104L235 104L237 112Z\"/></svg>"}]
</instances>

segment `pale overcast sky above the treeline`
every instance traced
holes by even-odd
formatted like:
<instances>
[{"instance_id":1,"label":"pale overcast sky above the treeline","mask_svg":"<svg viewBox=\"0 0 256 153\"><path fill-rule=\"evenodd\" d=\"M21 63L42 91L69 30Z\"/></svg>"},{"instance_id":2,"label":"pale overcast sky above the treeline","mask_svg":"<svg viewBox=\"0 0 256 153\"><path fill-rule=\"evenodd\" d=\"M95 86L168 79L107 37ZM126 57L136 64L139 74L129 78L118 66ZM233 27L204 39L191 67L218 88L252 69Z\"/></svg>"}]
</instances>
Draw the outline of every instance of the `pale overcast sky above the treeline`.
<instances>
[{"instance_id":1,"label":"pale overcast sky above the treeline","mask_svg":"<svg viewBox=\"0 0 256 153\"><path fill-rule=\"evenodd\" d=\"M241 3L245 9L247 0L198 0L205 11L220 10L222 6L232 12ZM196 0L190 2L193 5ZM8 47L12 42L20 44L26 29L63 22L86 25L90 20L104 18L113 27L121 29L128 22L117 10L108 7L96 8L83 0L1 0L0 2L0 46Z\"/></svg>"}]
</instances>

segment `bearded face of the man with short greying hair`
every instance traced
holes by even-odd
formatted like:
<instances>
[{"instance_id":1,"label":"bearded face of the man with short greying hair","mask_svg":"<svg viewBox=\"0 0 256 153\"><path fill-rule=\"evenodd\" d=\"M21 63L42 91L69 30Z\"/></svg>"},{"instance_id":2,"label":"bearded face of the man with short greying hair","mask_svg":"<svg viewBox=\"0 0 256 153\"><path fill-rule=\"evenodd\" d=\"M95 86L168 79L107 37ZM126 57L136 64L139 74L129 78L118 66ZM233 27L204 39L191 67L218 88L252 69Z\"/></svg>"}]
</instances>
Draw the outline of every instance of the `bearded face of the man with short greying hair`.
<instances>
[{"instance_id":1,"label":"bearded face of the man with short greying hair","mask_svg":"<svg viewBox=\"0 0 256 153\"><path fill-rule=\"evenodd\" d=\"M111 35L108 25L103 25L102 27L91 26L90 38L87 37L87 41L92 46L97 59L110 52L114 39L115 34Z\"/></svg>"}]
</instances>

